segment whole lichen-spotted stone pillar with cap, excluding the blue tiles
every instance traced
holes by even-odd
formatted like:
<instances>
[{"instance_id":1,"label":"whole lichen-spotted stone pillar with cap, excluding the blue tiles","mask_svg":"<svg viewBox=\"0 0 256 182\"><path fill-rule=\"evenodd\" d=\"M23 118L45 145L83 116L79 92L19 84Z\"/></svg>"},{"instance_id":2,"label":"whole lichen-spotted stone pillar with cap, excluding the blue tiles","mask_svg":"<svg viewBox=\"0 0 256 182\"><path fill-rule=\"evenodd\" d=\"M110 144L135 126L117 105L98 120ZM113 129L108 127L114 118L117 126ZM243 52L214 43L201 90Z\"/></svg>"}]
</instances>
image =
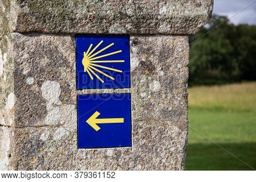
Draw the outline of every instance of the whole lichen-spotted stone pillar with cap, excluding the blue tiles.
<instances>
[{"instance_id":1,"label":"whole lichen-spotted stone pillar with cap, excluding the blue tiles","mask_svg":"<svg viewBox=\"0 0 256 182\"><path fill-rule=\"evenodd\" d=\"M0 169L183 170L188 35L212 0L0 0ZM76 88L76 34L129 34L131 88ZM131 93L132 147L77 148L77 94Z\"/></svg>"}]
</instances>

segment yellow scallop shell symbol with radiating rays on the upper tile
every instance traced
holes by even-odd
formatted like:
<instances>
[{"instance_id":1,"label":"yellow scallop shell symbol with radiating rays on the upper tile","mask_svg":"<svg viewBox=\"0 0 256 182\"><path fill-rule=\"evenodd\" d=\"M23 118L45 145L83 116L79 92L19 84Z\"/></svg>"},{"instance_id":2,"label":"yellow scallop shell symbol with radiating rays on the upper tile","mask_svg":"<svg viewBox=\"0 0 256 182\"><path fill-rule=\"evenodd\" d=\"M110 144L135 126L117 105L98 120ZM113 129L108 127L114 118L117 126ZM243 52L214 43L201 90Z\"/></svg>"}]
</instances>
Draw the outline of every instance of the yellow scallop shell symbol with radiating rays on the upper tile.
<instances>
[{"instance_id":1,"label":"yellow scallop shell symbol with radiating rays on the upper tile","mask_svg":"<svg viewBox=\"0 0 256 182\"><path fill-rule=\"evenodd\" d=\"M102 42L103 42L103 40L101 40L101 42L98 43L97 46L92 49L92 51L90 51L90 49L92 48L93 44L90 44L88 50L86 52L84 52L84 57L82 59L82 65L84 66L84 72L87 72L92 80L93 80L93 76L92 76L92 74L93 74L94 76L96 76L98 78L98 80L100 80L102 83L104 83L104 81L95 73L95 71L101 73L102 75L104 75L106 77L109 77L112 80L115 80L115 78L113 78L110 75L107 75L106 73L98 70L95 67L109 69L111 71L120 72L120 73L122 73L122 71L119 70L119 69L104 67L102 65L98 65L98 63L123 63L123 62L125 62L125 60L106 60L106 61L105 60L97 60L97 59L100 59L101 57L106 57L106 56L110 56L110 55L114 55L116 53L122 52L122 50L119 50L119 51L110 52L110 53L107 53L105 55L95 57L96 55L98 55L102 51L105 51L106 49L108 49L109 47L114 45L114 43L109 44L109 46L106 46L106 47L100 49L100 51L98 51L96 53L93 53L102 44Z\"/></svg>"}]
</instances>

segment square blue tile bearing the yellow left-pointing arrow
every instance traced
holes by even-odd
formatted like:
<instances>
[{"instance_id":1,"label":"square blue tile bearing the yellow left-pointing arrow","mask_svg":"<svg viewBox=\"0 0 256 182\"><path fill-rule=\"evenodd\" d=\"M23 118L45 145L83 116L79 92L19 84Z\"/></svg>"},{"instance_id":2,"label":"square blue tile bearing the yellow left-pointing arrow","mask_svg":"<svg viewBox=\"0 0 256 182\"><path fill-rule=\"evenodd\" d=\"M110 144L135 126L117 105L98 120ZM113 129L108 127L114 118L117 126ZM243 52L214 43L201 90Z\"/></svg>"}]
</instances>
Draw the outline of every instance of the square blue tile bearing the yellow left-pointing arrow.
<instances>
[{"instance_id":1,"label":"square blue tile bearing the yellow left-pointing arrow","mask_svg":"<svg viewBox=\"0 0 256 182\"><path fill-rule=\"evenodd\" d=\"M78 148L131 147L131 94L77 96Z\"/></svg>"}]
</instances>

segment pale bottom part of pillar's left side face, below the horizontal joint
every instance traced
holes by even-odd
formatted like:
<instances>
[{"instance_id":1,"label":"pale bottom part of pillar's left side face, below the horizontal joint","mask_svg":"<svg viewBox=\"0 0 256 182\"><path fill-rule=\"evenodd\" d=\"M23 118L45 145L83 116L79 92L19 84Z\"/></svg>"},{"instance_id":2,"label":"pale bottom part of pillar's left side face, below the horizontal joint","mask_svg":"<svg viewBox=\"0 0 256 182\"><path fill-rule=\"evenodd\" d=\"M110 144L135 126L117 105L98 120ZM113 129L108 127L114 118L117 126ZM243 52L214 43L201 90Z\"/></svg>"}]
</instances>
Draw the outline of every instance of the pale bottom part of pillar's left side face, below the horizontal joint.
<instances>
[{"instance_id":1,"label":"pale bottom part of pillar's left side face, below the horizontal joint","mask_svg":"<svg viewBox=\"0 0 256 182\"><path fill-rule=\"evenodd\" d=\"M8 127L0 127L0 171L7 170L9 165L10 131Z\"/></svg>"}]
</instances>

